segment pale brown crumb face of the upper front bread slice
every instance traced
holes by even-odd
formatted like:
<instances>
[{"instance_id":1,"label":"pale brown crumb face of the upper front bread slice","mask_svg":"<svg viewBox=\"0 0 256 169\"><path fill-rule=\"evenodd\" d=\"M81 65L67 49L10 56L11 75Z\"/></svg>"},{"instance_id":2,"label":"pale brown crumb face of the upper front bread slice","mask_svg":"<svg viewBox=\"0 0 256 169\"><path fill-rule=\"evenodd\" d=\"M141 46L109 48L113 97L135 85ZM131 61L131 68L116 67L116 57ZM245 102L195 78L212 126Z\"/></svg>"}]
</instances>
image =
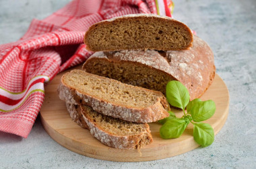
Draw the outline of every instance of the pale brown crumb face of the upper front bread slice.
<instances>
[{"instance_id":1,"label":"pale brown crumb face of the upper front bread slice","mask_svg":"<svg viewBox=\"0 0 256 169\"><path fill-rule=\"evenodd\" d=\"M63 80L67 86L81 94L132 108L147 108L157 102L160 96L157 92L134 88L134 86L113 79L96 77L80 70L66 73Z\"/></svg>"}]
</instances>

